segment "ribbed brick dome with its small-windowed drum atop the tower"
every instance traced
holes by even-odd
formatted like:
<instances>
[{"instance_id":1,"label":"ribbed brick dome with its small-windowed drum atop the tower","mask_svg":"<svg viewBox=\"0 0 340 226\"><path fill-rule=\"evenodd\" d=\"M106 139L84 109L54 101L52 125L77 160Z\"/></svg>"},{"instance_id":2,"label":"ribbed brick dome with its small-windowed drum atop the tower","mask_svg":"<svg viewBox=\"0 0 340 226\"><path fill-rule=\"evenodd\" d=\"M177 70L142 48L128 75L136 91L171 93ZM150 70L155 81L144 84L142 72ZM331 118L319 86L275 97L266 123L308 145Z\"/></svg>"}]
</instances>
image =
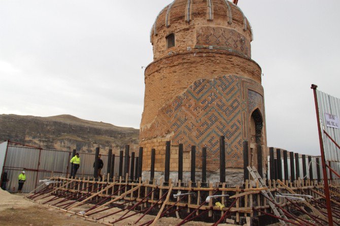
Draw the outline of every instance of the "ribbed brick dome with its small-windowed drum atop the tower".
<instances>
[{"instance_id":1,"label":"ribbed brick dome with its small-windowed drum atop the tower","mask_svg":"<svg viewBox=\"0 0 340 226\"><path fill-rule=\"evenodd\" d=\"M166 37L174 34L174 47ZM212 36L209 36L212 35ZM197 48L219 49L250 58L252 27L227 0L175 0L160 11L150 32L154 60Z\"/></svg>"}]
</instances>

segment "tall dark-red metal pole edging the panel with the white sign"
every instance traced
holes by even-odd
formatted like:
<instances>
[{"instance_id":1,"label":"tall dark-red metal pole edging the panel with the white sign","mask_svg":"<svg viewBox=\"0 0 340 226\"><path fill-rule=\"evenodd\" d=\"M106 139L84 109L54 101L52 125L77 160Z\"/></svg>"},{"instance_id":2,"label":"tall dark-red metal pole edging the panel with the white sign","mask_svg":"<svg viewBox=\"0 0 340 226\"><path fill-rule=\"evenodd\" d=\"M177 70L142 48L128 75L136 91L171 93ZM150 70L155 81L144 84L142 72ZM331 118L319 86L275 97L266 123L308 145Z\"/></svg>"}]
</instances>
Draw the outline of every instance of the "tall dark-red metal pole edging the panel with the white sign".
<instances>
[{"instance_id":1,"label":"tall dark-red metal pole edging the panel with the white sign","mask_svg":"<svg viewBox=\"0 0 340 226\"><path fill-rule=\"evenodd\" d=\"M318 104L318 97L317 97L317 93L316 93L316 89L317 88L318 88L318 86L312 84L311 89L313 89L313 92L314 92L315 110L316 110L316 117L317 117L318 130L319 130L319 141L320 141L320 149L321 149L321 162L322 162L323 181L325 183L325 196L326 196L326 204L327 204L327 212L328 212L328 223L329 223L329 226L333 226L333 216L332 216L332 209L331 209L331 205L330 205L330 196L329 196L329 186L328 186L328 178L327 178L327 170L326 170L325 151L323 149L323 140L322 140L322 134L321 134L319 104Z\"/></svg>"}]
</instances>

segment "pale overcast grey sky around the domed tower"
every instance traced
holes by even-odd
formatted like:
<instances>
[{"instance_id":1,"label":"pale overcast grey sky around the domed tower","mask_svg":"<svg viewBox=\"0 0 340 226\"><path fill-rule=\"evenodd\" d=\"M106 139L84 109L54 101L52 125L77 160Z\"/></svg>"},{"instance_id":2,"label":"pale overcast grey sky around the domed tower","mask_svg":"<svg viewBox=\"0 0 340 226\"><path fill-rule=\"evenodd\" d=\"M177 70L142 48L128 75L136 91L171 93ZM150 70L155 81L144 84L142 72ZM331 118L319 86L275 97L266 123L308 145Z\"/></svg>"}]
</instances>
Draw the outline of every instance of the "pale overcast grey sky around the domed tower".
<instances>
[{"instance_id":1,"label":"pale overcast grey sky around the domed tower","mask_svg":"<svg viewBox=\"0 0 340 226\"><path fill-rule=\"evenodd\" d=\"M0 0L0 114L139 128L150 29L170 0ZM319 155L311 84L340 98L340 1L240 0L267 145Z\"/></svg>"}]
</instances>

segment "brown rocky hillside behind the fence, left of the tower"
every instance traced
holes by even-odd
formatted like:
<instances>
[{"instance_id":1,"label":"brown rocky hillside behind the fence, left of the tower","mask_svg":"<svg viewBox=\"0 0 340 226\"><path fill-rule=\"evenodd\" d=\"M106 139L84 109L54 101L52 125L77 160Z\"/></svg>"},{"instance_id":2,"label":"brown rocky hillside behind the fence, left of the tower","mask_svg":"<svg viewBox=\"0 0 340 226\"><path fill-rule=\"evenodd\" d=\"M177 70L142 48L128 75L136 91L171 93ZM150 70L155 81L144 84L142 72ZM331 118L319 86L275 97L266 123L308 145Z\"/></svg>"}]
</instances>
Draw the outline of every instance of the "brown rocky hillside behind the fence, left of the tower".
<instances>
[{"instance_id":1,"label":"brown rocky hillside behind the fence, left of the tower","mask_svg":"<svg viewBox=\"0 0 340 226\"><path fill-rule=\"evenodd\" d=\"M106 153L123 150L125 144L138 150L139 130L103 122L82 120L70 115L52 117L0 115L0 141L10 140L32 146ZM105 151L104 151L105 150Z\"/></svg>"}]
</instances>

